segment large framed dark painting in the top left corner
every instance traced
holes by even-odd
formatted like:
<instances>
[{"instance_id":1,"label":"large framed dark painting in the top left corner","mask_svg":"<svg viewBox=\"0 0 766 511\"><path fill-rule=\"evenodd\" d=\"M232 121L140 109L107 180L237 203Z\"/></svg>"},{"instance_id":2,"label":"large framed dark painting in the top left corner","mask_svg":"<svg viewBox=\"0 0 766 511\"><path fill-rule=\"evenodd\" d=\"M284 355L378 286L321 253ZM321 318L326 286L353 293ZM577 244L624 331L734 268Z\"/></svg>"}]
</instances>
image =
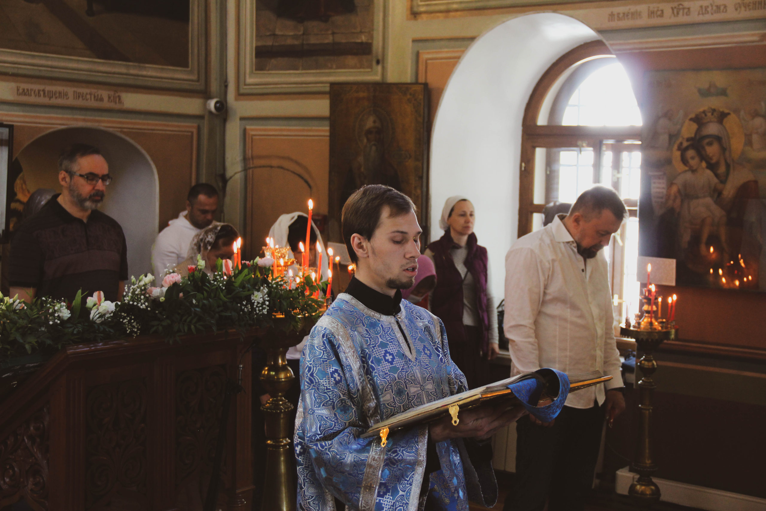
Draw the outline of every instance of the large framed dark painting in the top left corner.
<instances>
[{"instance_id":1,"label":"large framed dark painting in the top left corner","mask_svg":"<svg viewBox=\"0 0 766 511\"><path fill-rule=\"evenodd\" d=\"M106 84L202 90L203 0L9 0L0 71Z\"/></svg>"}]
</instances>

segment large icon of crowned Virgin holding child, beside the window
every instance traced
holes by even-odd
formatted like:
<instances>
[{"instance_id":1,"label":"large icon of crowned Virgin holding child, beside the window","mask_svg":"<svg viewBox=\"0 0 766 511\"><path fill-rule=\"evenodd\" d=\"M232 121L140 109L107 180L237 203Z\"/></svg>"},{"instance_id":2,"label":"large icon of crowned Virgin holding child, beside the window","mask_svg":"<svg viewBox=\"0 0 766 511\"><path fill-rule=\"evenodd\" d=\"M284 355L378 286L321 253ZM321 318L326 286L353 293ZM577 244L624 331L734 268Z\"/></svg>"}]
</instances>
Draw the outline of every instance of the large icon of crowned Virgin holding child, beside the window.
<instances>
[{"instance_id":1,"label":"large icon of crowned Virgin holding child, beside the window","mask_svg":"<svg viewBox=\"0 0 766 511\"><path fill-rule=\"evenodd\" d=\"M766 290L766 69L644 77L640 255L676 284Z\"/></svg>"}]
</instances>

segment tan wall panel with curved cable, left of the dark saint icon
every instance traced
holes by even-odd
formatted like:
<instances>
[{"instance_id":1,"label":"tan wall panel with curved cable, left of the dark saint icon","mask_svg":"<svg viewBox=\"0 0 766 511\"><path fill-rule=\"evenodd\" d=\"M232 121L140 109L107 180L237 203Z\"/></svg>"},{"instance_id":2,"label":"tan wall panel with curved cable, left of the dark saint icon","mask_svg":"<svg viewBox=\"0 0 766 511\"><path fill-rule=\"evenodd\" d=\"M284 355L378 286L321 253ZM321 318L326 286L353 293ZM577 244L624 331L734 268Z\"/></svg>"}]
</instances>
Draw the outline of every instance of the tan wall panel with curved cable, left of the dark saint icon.
<instances>
[{"instance_id":1,"label":"tan wall panel with curved cable, left of the dark saint icon","mask_svg":"<svg viewBox=\"0 0 766 511\"><path fill-rule=\"evenodd\" d=\"M247 234L245 257L253 258L264 246L271 225L280 215L306 211L312 198L316 213L327 215L329 182L329 129L303 127L249 127L245 129L247 166L274 165L297 172L311 183L283 169L247 172Z\"/></svg>"}]
</instances>

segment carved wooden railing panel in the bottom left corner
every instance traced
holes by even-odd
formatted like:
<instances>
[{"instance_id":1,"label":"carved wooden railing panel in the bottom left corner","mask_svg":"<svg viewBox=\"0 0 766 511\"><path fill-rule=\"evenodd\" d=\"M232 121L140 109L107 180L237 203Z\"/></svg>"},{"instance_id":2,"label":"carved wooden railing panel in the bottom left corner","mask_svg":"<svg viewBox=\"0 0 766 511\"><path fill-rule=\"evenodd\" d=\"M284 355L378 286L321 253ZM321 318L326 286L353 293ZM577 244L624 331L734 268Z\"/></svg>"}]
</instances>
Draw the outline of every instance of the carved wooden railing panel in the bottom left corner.
<instances>
[{"instance_id":1,"label":"carved wooden railing panel in the bottom left corner","mask_svg":"<svg viewBox=\"0 0 766 511\"><path fill-rule=\"evenodd\" d=\"M45 405L0 441L0 506L26 498L33 509L48 509L49 418Z\"/></svg>"}]
</instances>

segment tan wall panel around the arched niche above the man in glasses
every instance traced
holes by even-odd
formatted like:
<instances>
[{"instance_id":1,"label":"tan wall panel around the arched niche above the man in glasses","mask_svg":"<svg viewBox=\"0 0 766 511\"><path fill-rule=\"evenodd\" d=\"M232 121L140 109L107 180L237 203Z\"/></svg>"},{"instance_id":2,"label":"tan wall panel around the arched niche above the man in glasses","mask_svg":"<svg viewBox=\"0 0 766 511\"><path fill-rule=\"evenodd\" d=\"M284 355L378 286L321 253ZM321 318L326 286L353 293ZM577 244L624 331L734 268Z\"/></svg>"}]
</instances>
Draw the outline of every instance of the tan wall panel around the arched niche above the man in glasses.
<instances>
[{"instance_id":1,"label":"tan wall panel around the arched niche above the man in glasses","mask_svg":"<svg viewBox=\"0 0 766 511\"><path fill-rule=\"evenodd\" d=\"M168 221L185 209L188 188L194 184L197 176L198 126L196 124L37 116L23 113L0 115L3 122L14 125L14 157L38 136L64 126L99 126L128 137L146 151L157 169L159 228L165 228ZM46 186L52 184L54 183L41 183Z\"/></svg>"}]
</instances>

